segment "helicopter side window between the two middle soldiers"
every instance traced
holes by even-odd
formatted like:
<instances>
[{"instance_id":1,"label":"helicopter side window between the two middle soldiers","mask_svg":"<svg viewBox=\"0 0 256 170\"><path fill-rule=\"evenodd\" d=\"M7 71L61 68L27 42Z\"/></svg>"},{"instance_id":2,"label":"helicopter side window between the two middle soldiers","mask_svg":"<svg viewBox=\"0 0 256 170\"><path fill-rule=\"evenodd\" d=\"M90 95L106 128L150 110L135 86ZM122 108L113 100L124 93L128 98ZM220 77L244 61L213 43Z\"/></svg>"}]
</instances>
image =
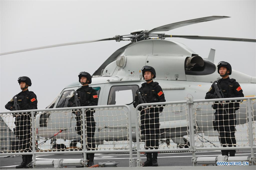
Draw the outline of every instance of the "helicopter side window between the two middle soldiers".
<instances>
[{"instance_id":1,"label":"helicopter side window between the two middle soldiers","mask_svg":"<svg viewBox=\"0 0 256 170\"><path fill-rule=\"evenodd\" d=\"M138 85L112 86L108 95L108 105L132 104L138 89Z\"/></svg>"}]
</instances>

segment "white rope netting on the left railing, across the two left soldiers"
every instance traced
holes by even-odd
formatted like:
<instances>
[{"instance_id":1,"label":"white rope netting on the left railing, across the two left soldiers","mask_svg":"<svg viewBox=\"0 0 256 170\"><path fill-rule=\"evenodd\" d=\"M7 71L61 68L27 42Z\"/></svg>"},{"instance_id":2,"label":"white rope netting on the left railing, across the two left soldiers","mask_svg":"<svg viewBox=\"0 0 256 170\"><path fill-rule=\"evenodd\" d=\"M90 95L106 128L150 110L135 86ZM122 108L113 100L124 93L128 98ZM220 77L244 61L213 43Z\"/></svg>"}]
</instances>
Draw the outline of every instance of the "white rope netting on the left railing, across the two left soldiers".
<instances>
[{"instance_id":1,"label":"white rope netting on the left railing, across the two left soldiers","mask_svg":"<svg viewBox=\"0 0 256 170\"><path fill-rule=\"evenodd\" d=\"M127 114L124 107L88 109L83 127L82 110L37 112L33 127L36 151L82 150L84 139L86 150L129 149ZM31 114L0 116L1 152L31 152Z\"/></svg>"}]
</instances>

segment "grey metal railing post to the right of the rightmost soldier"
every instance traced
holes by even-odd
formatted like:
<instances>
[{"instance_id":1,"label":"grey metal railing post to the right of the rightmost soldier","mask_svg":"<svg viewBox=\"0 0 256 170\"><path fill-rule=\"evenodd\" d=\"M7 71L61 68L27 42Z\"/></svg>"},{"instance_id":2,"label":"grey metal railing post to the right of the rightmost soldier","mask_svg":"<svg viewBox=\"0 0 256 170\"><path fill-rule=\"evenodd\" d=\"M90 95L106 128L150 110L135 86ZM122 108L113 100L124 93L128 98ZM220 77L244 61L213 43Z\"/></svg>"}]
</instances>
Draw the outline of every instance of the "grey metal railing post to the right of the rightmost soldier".
<instances>
[{"instance_id":1,"label":"grey metal railing post to the right of the rightmost soldier","mask_svg":"<svg viewBox=\"0 0 256 170\"><path fill-rule=\"evenodd\" d=\"M251 99L248 99L248 118L249 118L249 140L250 140L250 147L251 147L251 161L253 165L253 161L255 160L254 157L254 150L253 150L253 134L252 134L252 109L251 109Z\"/></svg>"}]
</instances>

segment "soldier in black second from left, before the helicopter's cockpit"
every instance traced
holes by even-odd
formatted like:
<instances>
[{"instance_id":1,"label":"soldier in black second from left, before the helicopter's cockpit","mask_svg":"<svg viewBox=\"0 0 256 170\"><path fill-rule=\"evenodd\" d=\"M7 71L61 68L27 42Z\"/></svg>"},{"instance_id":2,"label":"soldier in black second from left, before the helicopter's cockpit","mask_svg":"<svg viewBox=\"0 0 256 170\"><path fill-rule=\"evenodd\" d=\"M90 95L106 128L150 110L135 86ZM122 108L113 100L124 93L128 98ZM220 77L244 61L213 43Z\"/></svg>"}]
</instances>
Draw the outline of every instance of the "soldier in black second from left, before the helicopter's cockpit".
<instances>
[{"instance_id":1,"label":"soldier in black second from left, before the helicopter's cockpit","mask_svg":"<svg viewBox=\"0 0 256 170\"><path fill-rule=\"evenodd\" d=\"M79 107L81 106L97 106L98 104L98 95L96 90L92 89L92 87L89 87L89 84L92 83L92 77L87 72L80 72L79 75L79 83L81 83L82 87L77 89L77 91L74 93L74 95L68 100L68 107ZM77 100L76 101L76 96ZM93 118L93 113L95 111L92 110L86 110L85 112L85 125L86 125L86 137L87 137L87 151L89 150L95 150L95 141L94 141L94 133L95 133L95 121ZM82 138L82 121L81 117L82 114L80 111L76 111L76 131L79 135L81 135ZM83 140L82 140L83 141ZM94 162L94 153L87 153L86 158L89 160L88 166L93 166ZM81 166L84 167L84 166Z\"/></svg>"}]
</instances>

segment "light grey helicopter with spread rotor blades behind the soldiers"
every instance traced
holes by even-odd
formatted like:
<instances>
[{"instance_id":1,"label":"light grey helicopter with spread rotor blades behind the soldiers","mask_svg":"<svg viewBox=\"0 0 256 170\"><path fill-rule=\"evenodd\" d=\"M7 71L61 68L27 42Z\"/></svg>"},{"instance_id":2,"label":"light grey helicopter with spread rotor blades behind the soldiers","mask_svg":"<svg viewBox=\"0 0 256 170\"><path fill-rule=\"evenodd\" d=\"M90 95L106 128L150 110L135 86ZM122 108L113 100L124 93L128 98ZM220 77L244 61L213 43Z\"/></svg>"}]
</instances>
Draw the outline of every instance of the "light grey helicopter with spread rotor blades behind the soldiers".
<instances>
[{"instance_id":1,"label":"light grey helicopter with spread rotor blades behind the soldiers","mask_svg":"<svg viewBox=\"0 0 256 170\"><path fill-rule=\"evenodd\" d=\"M12 51L1 53L0 55L7 55L19 52L26 52L31 50L39 50L44 48L61 47L75 44L84 44L97 41L130 41L127 45L117 49L108 59L102 63L102 65L92 74L92 84L90 86L94 88L99 96L98 105L116 105L126 104L130 107L132 112L132 129L135 131L135 121L137 121L137 113L133 109L133 101L135 98L135 92L139 89L140 85L144 83L141 68L145 65L150 65L156 70L157 81L165 94L166 101L180 101L186 100L186 96L191 94L193 99L204 99L205 93L208 92L212 85L212 82L219 79L220 76L217 72L217 65L214 63L215 50L211 49L208 58L202 58L196 54L192 49L186 45L166 40L166 38L185 38L193 40L221 40L221 41L244 41L244 42L256 42L255 39L243 39L243 38L228 38L228 37L209 37L209 36L191 36L191 35L167 35L165 32L172 29L176 29L191 24L208 22L217 19L229 18L227 16L211 16L204 18L196 18L181 22L176 22L164 26L159 26L151 30L138 29L132 31L128 35L116 35L112 38L94 40L94 41L79 41L71 43L56 44L38 48L29 48L24 50ZM164 61L164 62L163 62ZM243 87L244 96L255 96L256 94L256 77L246 75L244 73L232 70L232 78L235 78L237 82ZM73 93L81 85L77 81L71 85L65 87L60 94L52 101L52 103L46 108L64 108L67 107L68 100L72 97ZM119 94L118 94L119 93ZM126 96L122 98L121 96ZM246 113L246 111L241 111ZM175 111L173 114L176 113ZM70 119L61 119L61 114L66 114ZM80 136L76 133L76 119L72 112L63 112L61 114L51 114L49 112L43 112L36 115L36 135L37 137L49 138L56 140L57 138L65 138L72 140L70 146L74 146L79 140ZM177 114L177 113L176 113ZM182 111L178 112L180 116L184 115ZM201 113L206 114L204 112ZM256 111L254 111L256 116ZM99 112L95 112L95 121L103 122L98 116ZM58 117L59 116L59 117ZM162 117L161 117L162 116ZM184 136L188 135L187 125L184 127L175 128L175 120L170 120L169 127L164 126L163 116L160 115L160 131L163 132L161 138L172 139L177 144L188 144ZM210 115L212 116L212 115ZM239 117L240 116L240 117ZM246 123L245 115L238 115L237 119L240 121L237 124ZM206 116L205 116L206 117ZM51 121L50 121L51 120ZM59 122L52 122L52 120L59 120ZM162 120L162 123L161 123ZM61 122L62 121L62 122ZM63 123L63 127L51 127L51 124ZM198 121L196 122L201 131L213 129L209 127L209 122ZM117 124L113 124L116 126ZM104 128L102 128L104 127ZM71 129L72 133L65 133L65 130ZM97 124L96 131L108 131L107 124ZM169 132L166 132L169 129ZM182 130L181 130L182 129ZM64 131L64 132L62 132ZM184 133L182 133L184 132ZM128 132L126 132L128 133ZM56 135L57 134L57 135ZM65 136L68 134L68 136ZM175 134L175 137L174 137ZM177 136L177 134L180 134ZM119 140L118 134L113 134L113 138L109 139L104 135L95 136L96 143L101 143L104 140ZM132 140L135 141L135 135L132 136ZM53 147L61 147L63 145L55 144Z\"/></svg>"}]
</instances>

